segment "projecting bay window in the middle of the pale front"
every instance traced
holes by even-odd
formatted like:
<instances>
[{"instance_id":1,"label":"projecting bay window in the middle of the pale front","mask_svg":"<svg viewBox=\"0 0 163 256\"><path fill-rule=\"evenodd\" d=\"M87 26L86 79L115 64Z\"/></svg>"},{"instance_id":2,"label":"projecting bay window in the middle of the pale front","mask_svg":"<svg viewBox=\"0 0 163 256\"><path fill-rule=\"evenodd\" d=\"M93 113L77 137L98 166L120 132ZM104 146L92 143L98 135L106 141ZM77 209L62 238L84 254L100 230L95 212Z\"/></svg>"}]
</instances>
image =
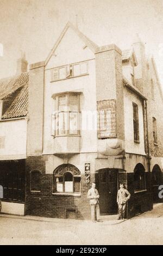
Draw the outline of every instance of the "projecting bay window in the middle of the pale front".
<instances>
[{"instance_id":1,"label":"projecting bay window in the middle of the pale front","mask_svg":"<svg viewBox=\"0 0 163 256\"><path fill-rule=\"evenodd\" d=\"M52 115L52 135L79 135L80 98L76 93L55 97L55 113Z\"/></svg>"}]
</instances>

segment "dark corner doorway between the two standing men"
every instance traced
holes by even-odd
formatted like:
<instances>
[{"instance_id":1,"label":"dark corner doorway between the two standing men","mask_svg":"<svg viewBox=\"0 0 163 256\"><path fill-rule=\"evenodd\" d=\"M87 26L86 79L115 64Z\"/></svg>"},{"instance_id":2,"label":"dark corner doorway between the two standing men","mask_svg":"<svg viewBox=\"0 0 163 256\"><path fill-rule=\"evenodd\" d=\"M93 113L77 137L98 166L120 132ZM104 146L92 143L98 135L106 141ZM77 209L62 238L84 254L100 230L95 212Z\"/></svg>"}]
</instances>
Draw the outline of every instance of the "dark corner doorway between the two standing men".
<instances>
[{"instance_id":1,"label":"dark corner doorway between the two standing men","mask_svg":"<svg viewBox=\"0 0 163 256\"><path fill-rule=\"evenodd\" d=\"M98 171L101 215L117 213L117 173L115 169L102 169Z\"/></svg>"}]
</instances>

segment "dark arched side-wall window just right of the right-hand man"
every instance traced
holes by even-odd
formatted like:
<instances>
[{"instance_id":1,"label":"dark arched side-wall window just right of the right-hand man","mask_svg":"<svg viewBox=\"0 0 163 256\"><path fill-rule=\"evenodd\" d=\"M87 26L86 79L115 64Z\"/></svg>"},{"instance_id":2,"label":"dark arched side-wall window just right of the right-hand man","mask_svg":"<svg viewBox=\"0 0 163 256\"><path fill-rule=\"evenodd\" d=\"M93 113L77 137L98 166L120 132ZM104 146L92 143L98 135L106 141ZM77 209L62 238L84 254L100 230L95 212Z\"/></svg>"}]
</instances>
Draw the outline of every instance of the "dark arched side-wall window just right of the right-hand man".
<instances>
[{"instance_id":1,"label":"dark arched side-wall window just right of the right-hand man","mask_svg":"<svg viewBox=\"0 0 163 256\"><path fill-rule=\"evenodd\" d=\"M137 164L134 169L134 190L145 190L146 189L146 178L145 168L142 164Z\"/></svg>"}]
</instances>

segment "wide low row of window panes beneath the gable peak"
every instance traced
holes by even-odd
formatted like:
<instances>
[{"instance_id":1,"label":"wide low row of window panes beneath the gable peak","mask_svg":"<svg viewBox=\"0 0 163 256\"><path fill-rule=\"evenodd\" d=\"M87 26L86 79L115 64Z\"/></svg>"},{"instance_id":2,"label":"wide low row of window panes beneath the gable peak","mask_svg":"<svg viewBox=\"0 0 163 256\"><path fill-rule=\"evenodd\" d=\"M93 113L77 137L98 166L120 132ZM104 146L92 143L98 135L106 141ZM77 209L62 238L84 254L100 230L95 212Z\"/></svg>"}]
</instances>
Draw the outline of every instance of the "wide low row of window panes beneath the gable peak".
<instances>
[{"instance_id":1,"label":"wide low row of window panes beneath the gable peak","mask_svg":"<svg viewBox=\"0 0 163 256\"><path fill-rule=\"evenodd\" d=\"M74 76L80 76L85 74L87 74L87 62L70 64L52 69L51 81L72 78Z\"/></svg>"}]
</instances>

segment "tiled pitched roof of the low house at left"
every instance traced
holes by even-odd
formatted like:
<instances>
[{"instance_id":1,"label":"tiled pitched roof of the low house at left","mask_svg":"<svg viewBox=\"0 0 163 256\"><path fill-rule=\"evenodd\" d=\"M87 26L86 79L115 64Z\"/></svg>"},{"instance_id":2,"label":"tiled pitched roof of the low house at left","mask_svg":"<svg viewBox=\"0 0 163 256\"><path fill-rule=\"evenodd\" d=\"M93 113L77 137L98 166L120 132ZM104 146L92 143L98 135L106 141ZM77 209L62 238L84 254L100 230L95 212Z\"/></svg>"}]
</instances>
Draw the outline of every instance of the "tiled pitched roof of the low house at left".
<instances>
[{"instance_id":1,"label":"tiled pitched roof of the low house at left","mask_svg":"<svg viewBox=\"0 0 163 256\"><path fill-rule=\"evenodd\" d=\"M28 72L0 80L0 99L5 108L2 120L27 115L28 80Z\"/></svg>"}]
</instances>

